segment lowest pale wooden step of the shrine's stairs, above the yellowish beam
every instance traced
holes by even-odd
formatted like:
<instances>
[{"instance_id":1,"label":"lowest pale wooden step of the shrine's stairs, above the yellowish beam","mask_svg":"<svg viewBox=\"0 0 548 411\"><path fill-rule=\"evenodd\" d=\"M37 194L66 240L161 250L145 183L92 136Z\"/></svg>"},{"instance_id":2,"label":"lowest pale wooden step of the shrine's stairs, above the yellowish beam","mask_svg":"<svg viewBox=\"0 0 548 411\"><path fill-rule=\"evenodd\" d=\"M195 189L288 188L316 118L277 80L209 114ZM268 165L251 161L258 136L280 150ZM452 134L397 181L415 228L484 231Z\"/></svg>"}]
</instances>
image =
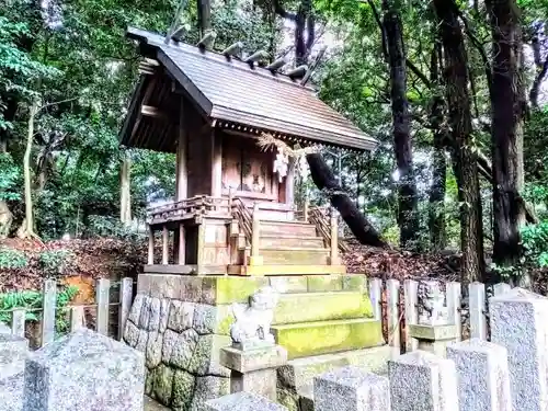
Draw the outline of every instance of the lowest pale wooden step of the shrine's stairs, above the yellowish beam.
<instances>
[{"instance_id":1,"label":"lowest pale wooden step of the shrine's stairs, above the yellowish beam","mask_svg":"<svg viewBox=\"0 0 548 411\"><path fill-rule=\"evenodd\" d=\"M259 255L263 258L264 265L328 265L329 254L328 249L302 249L296 247L259 250Z\"/></svg>"}]
</instances>

